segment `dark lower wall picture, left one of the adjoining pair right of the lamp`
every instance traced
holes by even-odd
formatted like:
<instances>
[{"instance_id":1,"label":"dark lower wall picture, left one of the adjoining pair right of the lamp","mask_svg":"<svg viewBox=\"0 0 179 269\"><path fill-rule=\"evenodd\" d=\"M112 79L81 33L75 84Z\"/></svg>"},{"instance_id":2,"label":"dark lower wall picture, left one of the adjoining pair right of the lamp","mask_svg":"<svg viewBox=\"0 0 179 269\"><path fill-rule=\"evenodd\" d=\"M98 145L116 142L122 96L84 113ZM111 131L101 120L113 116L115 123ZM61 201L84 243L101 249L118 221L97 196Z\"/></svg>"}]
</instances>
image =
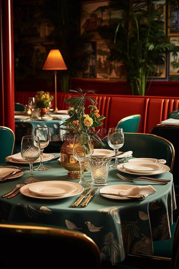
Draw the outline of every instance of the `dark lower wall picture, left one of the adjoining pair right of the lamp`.
<instances>
[{"instance_id":1,"label":"dark lower wall picture, left one of the adjoining pair right of the lamp","mask_svg":"<svg viewBox=\"0 0 179 269\"><path fill-rule=\"evenodd\" d=\"M96 42L85 44L84 53L85 62L83 64L82 78L96 78Z\"/></svg>"}]
</instances>

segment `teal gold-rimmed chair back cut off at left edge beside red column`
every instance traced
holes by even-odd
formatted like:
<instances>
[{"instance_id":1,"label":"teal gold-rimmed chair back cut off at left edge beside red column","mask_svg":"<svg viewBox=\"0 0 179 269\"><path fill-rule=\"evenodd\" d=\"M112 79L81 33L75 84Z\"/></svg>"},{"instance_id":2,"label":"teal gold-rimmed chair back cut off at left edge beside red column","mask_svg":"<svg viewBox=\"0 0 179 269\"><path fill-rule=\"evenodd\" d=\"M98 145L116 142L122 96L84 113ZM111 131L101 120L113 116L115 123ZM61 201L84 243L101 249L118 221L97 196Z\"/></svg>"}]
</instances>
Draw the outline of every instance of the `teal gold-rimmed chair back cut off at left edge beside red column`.
<instances>
[{"instance_id":1,"label":"teal gold-rimmed chair back cut off at left edge beside red column","mask_svg":"<svg viewBox=\"0 0 179 269\"><path fill-rule=\"evenodd\" d=\"M3 163L5 157L13 153L14 141L14 132L8 127L0 126L0 163Z\"/></svg>"}]
</instances>

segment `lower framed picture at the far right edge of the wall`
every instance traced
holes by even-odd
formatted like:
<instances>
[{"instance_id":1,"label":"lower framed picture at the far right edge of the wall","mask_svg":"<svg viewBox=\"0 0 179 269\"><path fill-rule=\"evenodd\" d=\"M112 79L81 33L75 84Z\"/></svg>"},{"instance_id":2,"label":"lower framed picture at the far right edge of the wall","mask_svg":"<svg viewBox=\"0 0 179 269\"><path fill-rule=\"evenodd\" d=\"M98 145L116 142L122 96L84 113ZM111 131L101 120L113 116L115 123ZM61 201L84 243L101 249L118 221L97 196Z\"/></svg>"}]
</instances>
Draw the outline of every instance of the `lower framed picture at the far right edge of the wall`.
<instances>
[{"instance_id":1,"label":"lower framed picture at the far right edge of the wall","mask_svg":"<svg viewBox=\"0 0 179 269\"><path fill-rule=\"evenodd\" d=\"M175 45L175 48L170 52L169 75L179 76L179 36L170 37L170 42Z\"/></svg>"}]
</instances>

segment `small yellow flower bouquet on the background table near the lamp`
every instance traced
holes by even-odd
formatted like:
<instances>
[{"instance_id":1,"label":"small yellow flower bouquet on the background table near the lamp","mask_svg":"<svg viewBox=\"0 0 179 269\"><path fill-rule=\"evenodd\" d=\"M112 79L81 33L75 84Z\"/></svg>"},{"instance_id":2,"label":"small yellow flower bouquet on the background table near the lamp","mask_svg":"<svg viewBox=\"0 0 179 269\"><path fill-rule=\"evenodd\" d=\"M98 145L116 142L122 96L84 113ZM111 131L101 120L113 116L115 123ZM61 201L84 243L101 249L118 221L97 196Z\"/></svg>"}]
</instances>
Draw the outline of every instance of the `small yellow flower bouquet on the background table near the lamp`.
<instances>
[{"instance_id":1,"label":"small yellow flower bouquet on the background table near the lamp","mask_svg":"<svg viewBox=\"0 0 179 269\"><path fill-rule=\"evenodd\" d=\"M47 108L51 105L53 96L48 91L37 91L36 94L36 108Z\"/></svg>"}]
</instances>

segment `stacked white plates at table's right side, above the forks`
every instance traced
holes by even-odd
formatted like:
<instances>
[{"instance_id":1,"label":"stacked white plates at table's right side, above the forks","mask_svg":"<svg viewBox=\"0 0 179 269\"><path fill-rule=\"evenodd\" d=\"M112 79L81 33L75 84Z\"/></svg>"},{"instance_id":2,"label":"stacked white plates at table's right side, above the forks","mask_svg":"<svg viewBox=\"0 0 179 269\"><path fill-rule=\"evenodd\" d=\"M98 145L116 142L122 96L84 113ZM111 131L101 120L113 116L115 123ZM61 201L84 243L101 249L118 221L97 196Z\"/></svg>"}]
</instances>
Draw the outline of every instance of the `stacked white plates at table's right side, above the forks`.
<instances>
[{"instance_id":1,"label":"stacked white plates at table's right side, above the forks","mask_svg":"<svg viewBox=\"0 0 179 269\"><path fill-rule=\"evenodd\" d=\"M152 161L134 161L121 163L117 166L121 172L133 175L158 175L169 172L169 166Z\"/></svg>"}]
</instances>

